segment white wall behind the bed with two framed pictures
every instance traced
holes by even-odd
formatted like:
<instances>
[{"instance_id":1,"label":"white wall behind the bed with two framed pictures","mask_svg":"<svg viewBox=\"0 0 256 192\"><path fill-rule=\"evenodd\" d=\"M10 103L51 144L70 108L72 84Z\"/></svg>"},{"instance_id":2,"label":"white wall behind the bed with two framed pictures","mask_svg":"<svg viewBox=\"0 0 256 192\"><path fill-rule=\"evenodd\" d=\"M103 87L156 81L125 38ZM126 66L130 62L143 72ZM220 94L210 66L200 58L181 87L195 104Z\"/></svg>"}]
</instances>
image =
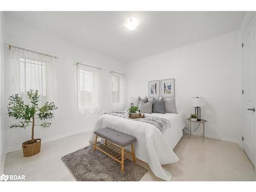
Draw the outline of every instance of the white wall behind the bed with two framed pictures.
<instances>
[{"instance_id":1,"label":"white wall behind the bed with two framed pictures","mask_svg":"<svg viewBox=\"0 0 256 192\"><path fill-rule=\"evenodd\" d=\"M149 80L175 78L178 111L194 113L191 97L205 97L205 136L240 143L240 46L234 31L133 61L126 67L127 96L147 95Z\"/></svg>"}]
</instances>

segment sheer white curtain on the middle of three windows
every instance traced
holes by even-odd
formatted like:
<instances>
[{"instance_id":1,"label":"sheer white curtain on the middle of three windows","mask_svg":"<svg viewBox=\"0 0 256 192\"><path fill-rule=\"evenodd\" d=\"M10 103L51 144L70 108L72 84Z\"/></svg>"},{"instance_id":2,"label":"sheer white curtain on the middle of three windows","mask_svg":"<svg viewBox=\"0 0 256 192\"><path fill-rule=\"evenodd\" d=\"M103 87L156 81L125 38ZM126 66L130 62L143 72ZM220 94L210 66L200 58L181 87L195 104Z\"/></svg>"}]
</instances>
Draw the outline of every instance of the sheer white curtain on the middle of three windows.
<instances>
[{"instance_id":1,"label":"sheer white curtain on the middle of three windows","mask_svg":"<svg viewBox=\"0 0 256 192\"><path fill-rule=\"evenodd\" d=\"M80 115L100 112L100 70L77 65L77 106Z\"/></svg>"}]
</instances>

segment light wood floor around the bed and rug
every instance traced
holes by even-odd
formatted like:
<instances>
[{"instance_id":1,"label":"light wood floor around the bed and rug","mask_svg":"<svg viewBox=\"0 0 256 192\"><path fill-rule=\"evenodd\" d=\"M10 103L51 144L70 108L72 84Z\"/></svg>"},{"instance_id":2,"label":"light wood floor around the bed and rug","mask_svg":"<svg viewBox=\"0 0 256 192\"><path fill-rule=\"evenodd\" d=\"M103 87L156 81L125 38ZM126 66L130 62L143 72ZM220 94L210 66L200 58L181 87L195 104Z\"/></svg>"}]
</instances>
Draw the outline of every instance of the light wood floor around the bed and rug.
<instances>
[{"instance_id":1,"label":"light wood floor around the bed and rug","mask_svg":"<svg viewBox=\"0 0 256 192\"><path fill-rule=\"evenodd\" d=\"M29 181L75 181L61 157L89 145L90 134L80 133L42 144L41 152L23 157L22 150L7 154L5 174L25 175ZM206 138L188 139L187 135L174 149L180 160L163 165L172 173L172 181L256 181L250 160L237 143ZM141 181L161 181L148 169Z\"/></svg>"}]
</instances>

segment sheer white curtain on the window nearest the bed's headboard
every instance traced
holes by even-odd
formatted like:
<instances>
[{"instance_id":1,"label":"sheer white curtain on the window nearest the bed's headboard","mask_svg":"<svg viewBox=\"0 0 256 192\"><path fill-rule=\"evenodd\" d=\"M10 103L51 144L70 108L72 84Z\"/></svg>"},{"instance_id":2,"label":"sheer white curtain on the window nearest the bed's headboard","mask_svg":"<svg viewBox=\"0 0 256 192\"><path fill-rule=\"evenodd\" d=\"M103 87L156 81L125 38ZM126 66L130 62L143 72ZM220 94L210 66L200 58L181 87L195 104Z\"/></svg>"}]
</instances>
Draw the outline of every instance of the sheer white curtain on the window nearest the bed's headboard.
<instances>
[{"instance_id":1,"label":"sheer white curtain on the window nearest the bed's headboard","mask_svg":"<svg viewBox=\"0 0 256 192\"><path fill-rule=\"evenodd\" d=\"M112 95L111 104L113 111L124 110L125 108L125 76L111 73Z\"/></svg>"}]
</instances>

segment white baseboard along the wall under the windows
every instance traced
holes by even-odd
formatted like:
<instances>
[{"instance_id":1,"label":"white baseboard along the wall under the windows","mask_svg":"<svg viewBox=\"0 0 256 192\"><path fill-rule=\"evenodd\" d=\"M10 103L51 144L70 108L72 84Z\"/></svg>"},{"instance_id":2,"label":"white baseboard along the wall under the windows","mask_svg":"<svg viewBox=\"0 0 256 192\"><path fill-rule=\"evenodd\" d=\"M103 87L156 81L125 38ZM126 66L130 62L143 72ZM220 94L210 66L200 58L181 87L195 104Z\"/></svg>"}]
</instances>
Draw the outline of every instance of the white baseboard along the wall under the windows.
<instances>
[{"instance_id":1,"label":"white baseboard along the wall under the windows","mask_svg":"<svg viewBox=\"0 0 256 192\"><path fill-rule=\"evenodd\" d=\"M57 140L57 139L69 137L69 136L76 135L76 134L79 134L79 133L89 134L89 133L92 133L92 132L93 132L93 128L91 127L90 129L88 129L86 131L79 130L79 131L76 131L76 132L69 132L69 133L66 133L66 134L56 135L54 137L47 137L45 139L42 139L41 143L44 144L44 143L47 143L47 142L50 142L50 141L54 141L54 140ZM21 150L21 149L22 149L21 144L14 145L12 147L7 148L6 154L10 153L10 152L17 151L17 150Z\"/></svg>"}]
</instances>

